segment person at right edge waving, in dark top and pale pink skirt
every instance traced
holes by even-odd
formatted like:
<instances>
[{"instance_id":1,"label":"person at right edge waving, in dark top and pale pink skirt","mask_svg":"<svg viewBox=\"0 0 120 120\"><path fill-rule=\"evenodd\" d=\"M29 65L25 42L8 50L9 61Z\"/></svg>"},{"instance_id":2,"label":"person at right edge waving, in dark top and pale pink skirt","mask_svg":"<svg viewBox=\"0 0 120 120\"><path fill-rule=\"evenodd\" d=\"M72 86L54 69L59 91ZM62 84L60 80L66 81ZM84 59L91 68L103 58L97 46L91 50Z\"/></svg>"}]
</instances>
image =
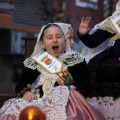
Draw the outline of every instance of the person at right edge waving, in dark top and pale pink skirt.
<instances>
[{"instance_id":1,"label":"person at right edge waving, in dark top and pale pink skirt","mask_svg":"<svg viewBox=\"0 0 120 120\"><path fill-rule=\"evenodd\" d=\"M95 48L109 39L108 46L94 55L88 63L95 86L87 101L96 106L106 120L120 119L120 31L111 23L111 18L119 15L120 1L112 16L94 27L93 34L88 33L90 17L82 18L77 33L80 40L90 48Z\"/></svg>"}]
</instances>

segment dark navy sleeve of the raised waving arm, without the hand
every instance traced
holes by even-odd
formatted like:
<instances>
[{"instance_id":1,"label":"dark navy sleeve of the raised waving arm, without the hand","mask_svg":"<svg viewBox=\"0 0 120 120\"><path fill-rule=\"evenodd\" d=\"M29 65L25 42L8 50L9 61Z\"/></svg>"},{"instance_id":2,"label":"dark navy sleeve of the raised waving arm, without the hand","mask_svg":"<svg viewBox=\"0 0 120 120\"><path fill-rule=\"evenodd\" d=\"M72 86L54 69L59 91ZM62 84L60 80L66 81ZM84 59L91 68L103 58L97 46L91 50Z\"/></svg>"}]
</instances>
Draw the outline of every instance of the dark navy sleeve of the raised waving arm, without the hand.
<instances>
[{"instance_id":1,"label":"dark navy sleeve of the raised waving arm, without the hand","mask_svg":"<svg viewBox=\"0 0 120 120\"><path fill-rule=\"evenodd\" d=\"M108 31L98 29L93 34L80 35L77 31L79 39L89 48L95 48L100 45L102 42L112 37L114 34L109 33Z\"/></svg>"}]
</instances>

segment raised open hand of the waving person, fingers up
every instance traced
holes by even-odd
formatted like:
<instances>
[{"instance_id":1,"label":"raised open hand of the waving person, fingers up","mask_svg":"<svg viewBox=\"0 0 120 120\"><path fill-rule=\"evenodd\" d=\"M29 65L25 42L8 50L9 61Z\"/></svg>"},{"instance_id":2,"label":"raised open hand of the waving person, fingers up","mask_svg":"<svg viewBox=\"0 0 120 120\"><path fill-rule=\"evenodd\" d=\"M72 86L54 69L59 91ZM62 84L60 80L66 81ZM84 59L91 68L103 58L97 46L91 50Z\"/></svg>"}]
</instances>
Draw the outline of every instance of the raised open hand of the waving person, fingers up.
<instances>
[{"instance_id":1,"label":"raised open hand of the waving person, fingers up","mask_svg":"<svg viewBox=\"0 0 120 120\"><path fill-rule=\"evenodd\" d=\"M82 18L80 25L79 25L79 33L81 35L85 35L89 32L90 21L91 21L91 17L87 17L86 19L84 17Z\"/></svg>"}]
</instances>

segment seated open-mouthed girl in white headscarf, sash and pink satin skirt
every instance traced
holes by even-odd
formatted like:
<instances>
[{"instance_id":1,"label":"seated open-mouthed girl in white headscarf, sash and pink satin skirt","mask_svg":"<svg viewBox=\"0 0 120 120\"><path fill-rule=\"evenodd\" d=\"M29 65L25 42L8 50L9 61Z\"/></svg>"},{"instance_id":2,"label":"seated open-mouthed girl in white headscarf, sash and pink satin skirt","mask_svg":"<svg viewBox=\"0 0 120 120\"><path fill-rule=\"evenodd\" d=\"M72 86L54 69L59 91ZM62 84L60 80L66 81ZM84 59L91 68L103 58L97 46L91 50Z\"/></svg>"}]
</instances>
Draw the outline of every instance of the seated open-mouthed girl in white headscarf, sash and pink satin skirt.
<instances>
[{"instance_id":1,"label":"seated open-mouthed girl in white headscarf, sash and pink satin skirt","mask_svg":"<svg viewBox=\"0 0 120 120\"><path fill-rule=\"evenodd\" d=\"M34 52L24 61L16 86L17 98L6 101L0 119L18 120L23 108L34 105L46 114L47 120L104 120L75 87L84 96L92 89L86 63L79 53L71 52L58 25L45 25Z\"/></svg>"}]
</instances>

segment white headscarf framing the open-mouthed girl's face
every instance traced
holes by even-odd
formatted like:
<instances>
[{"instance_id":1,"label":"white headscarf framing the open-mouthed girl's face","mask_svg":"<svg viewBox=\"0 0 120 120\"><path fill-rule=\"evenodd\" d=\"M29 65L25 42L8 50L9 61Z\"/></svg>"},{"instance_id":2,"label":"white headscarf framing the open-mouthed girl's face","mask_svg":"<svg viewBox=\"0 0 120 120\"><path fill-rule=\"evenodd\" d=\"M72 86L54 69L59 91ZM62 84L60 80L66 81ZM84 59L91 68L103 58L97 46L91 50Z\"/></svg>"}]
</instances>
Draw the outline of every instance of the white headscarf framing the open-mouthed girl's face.
<instances>
[{"instance_id":1,"label":"white headscarf framing the open-mouthed girl's face","mask_svg":"<svg viewBox=\"0 0 120 120\"><path fill-rule=\"evenodd\" d=\"M63 31L63 33L64 33L64 36L66 36L66 34L65 34L65 32L66 32L66 27L64 26L64 24L62 24L62 23L49 23L49 24L53 24L53 25L56 24L56 25L58 25L58 26L62 29L62 31ZM49 25L49 24L48 24L48 25ZM41 54L42 54L43 52L45 52L45 51L42 49L42 47L40 46L40 38L41 38L41 35L42 35L43 30L45 29L45 27L47 27L47 25L42 26L42 28L41 28L41 30L40 30L40 33L39 33L39 35L38 35L37 42L36 42L36 44L35 44L34 51L33 51L32 55L31 55L31 57L37 55L38 53L41 53ZM65 37L65 38L66 38L66 37ZM66 39L65 39L65 40L66 40ZM66 40L66 44L65 44L65 51L66 51L66 52L70 52L70 51L71 51L71 48L70 48L67 40Z\"/></svg>"}]
</instances>

